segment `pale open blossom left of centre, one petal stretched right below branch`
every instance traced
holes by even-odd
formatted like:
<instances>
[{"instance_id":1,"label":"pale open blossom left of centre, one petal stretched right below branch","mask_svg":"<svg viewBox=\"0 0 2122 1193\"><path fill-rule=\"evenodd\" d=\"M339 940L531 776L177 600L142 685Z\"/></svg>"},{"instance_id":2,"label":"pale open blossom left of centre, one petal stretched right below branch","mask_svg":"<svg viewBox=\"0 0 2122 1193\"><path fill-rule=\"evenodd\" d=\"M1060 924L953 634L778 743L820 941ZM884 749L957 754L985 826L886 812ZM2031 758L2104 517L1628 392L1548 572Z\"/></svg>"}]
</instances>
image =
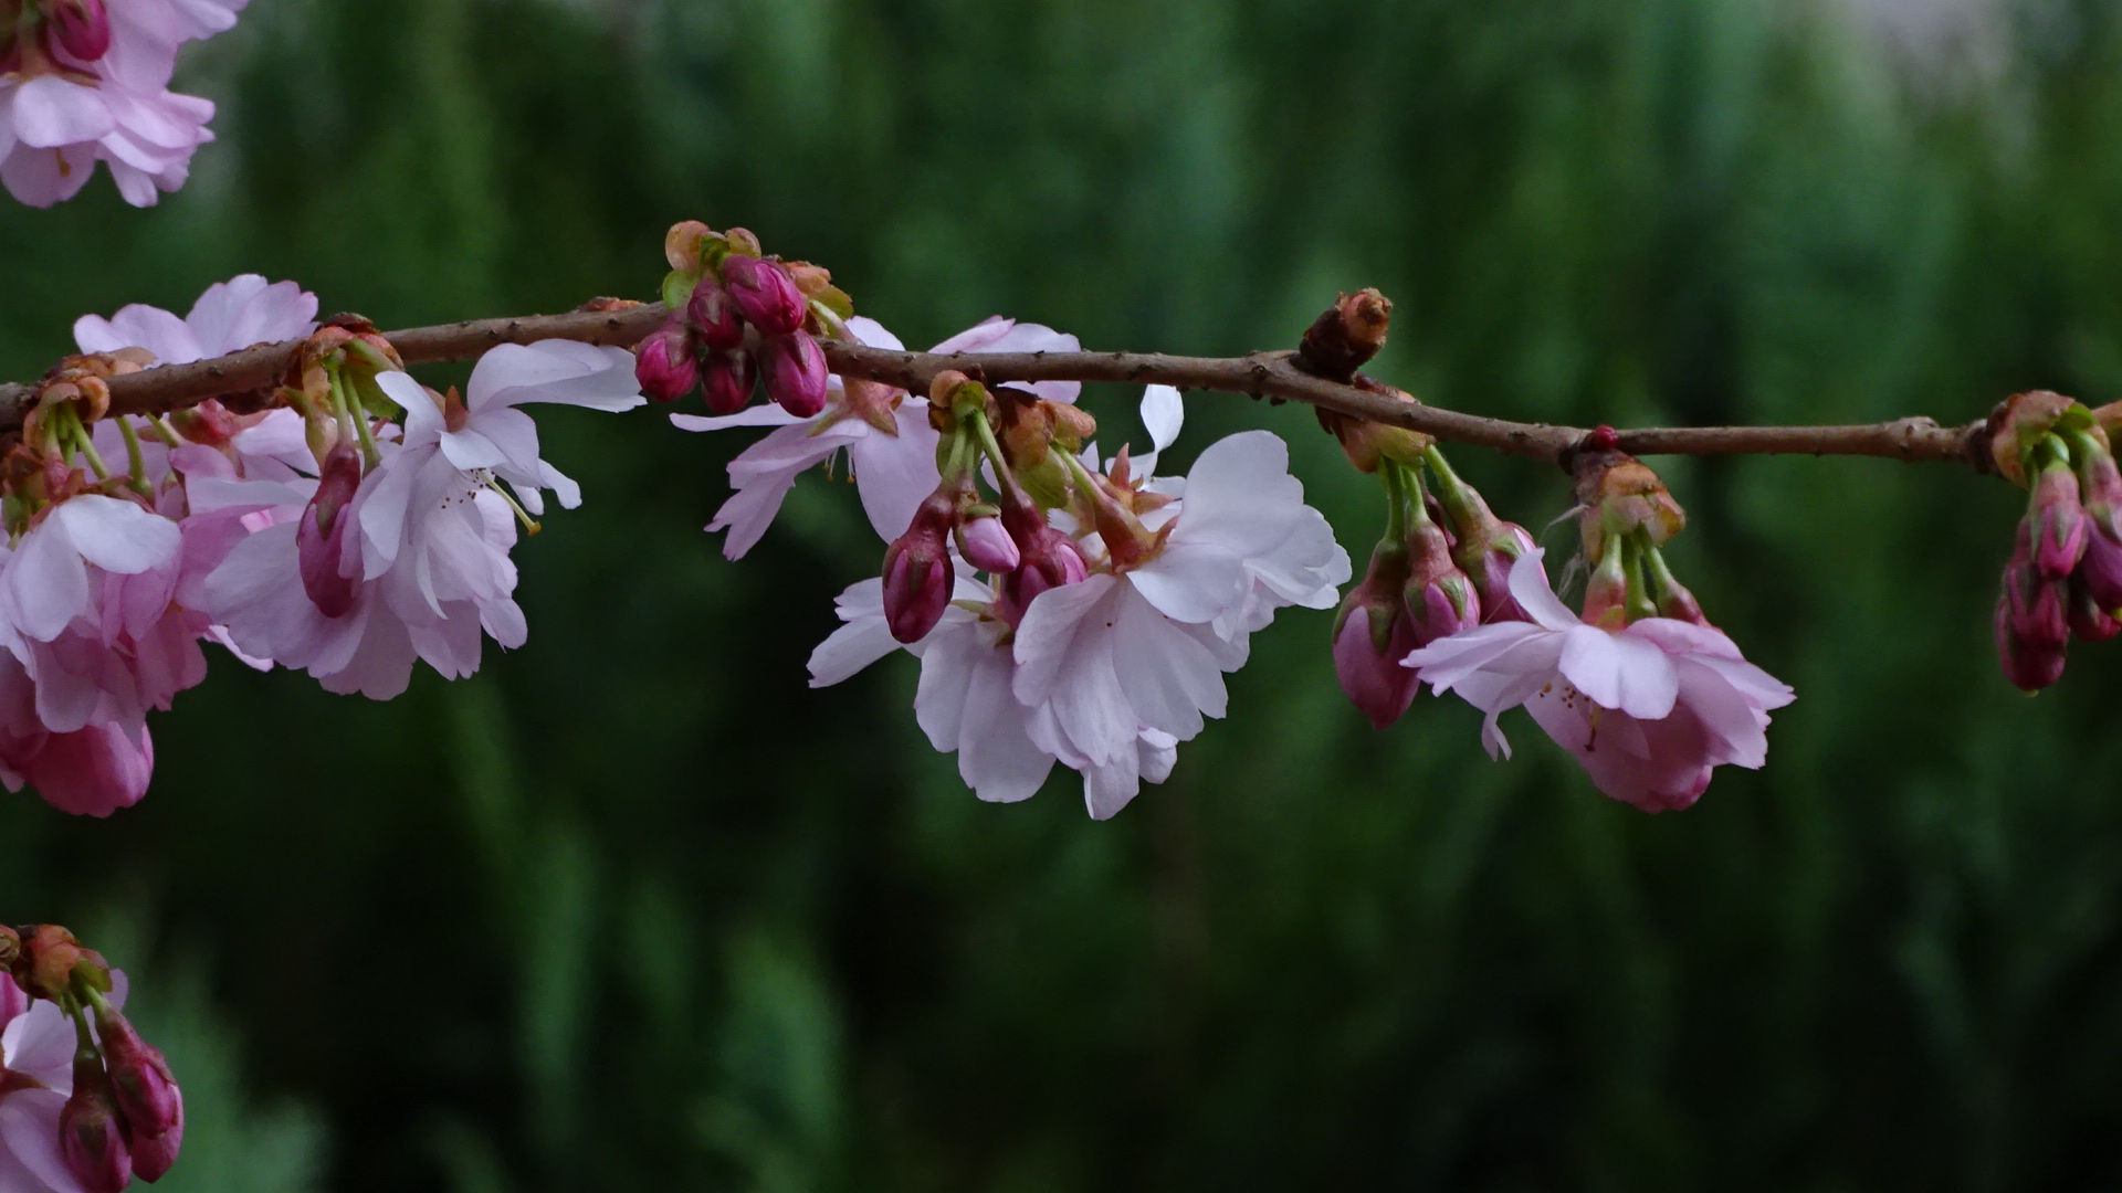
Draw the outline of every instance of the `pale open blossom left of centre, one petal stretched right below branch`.
<instances>
[{"instance_id":1,"label":"pale open blossom left of centre, one petal stretched right below branch","mask_svg":"<svg viewBox=\"0 0 2122 1193\"><path fill-rule=\"evenodd\" d=\"M204 582L202 609L244 654L303 669L331 692L397 696L414 658L452 679L471 675L482 633L509 650L528 633L514 601L516 514L497 482L533 514L541 488L564 507L581 503L581 488L541 459L537 425L518 405L630 410L647 401L632 365L618 348L503 346L480 359L463 399L441 401L405 374L382 374L405 429L378 444L380 463L335 509L333 533L310 546L312 556L337 546L340 584L333 560L303 558L316 480L193 484L195 516L236 514L255 529ZM327 590L337 616L312 599Z\"/></svg>"}]
</instances>

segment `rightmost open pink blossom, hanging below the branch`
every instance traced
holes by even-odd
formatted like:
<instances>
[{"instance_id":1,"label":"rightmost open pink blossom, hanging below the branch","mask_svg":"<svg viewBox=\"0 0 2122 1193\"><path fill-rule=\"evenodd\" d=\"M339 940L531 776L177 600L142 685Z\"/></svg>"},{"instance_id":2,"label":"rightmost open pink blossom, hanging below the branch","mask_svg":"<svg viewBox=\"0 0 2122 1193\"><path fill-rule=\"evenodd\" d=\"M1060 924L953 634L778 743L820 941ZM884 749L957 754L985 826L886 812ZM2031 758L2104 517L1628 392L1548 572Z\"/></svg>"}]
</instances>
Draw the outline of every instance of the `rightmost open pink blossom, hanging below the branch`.
<instances>
[{"instance_id":1,"label":"rightmost open pink blossom, hanging below the branch","mask_svg":"<svg viewBox=\"0 0 2122 1193\"><path fill-rule=\"evenodd\" d=\"M1642 811L1685 809L1717 766L1768 760L1768 713L1791 703L1789 686L1708 626L1587 626L1547 586L1541 554L1511 569L1511 596L1530 622L1492 622L1407 656L1439 694L1456 690L1488 713L1492 756L1511 751L1496 717L1526 705L1600 792Z\"/></svg>"}]
</instances>

